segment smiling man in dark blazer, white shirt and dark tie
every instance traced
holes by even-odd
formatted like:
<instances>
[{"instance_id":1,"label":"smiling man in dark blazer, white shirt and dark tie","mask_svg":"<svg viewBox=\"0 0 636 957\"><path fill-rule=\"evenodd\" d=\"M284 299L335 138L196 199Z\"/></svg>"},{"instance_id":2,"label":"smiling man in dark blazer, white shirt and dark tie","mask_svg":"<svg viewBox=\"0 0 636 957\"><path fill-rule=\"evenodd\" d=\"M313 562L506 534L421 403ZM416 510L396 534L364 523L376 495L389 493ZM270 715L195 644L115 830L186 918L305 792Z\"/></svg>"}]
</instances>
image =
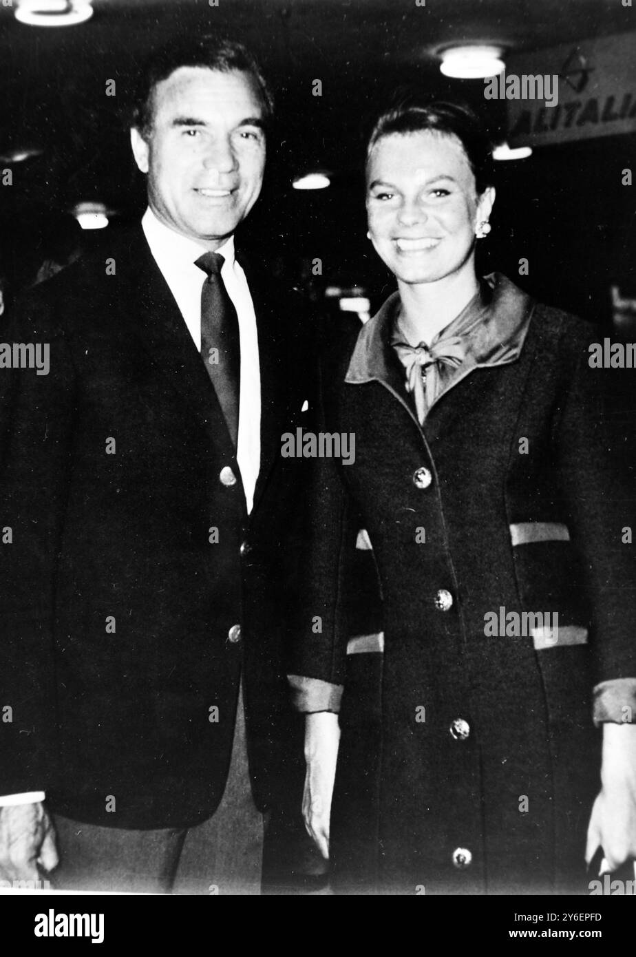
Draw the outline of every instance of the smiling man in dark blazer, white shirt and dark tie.
<instances>
[{"instance_id":1,"label":"smiling man in dark blazer, white shirt and dark tie","mask_svg":"<svg viewBox=\"0 0 636 957\"><path fill-rule=\"evenodd\" d=\"M280 662L302 466L280 435L311 414L307 329L234 250L271 112L239 44L155 56L141 227L5 333L50 371L0 371L0 878L255 893L262 812L299 808Z\"/></svg>"}]
</instances>

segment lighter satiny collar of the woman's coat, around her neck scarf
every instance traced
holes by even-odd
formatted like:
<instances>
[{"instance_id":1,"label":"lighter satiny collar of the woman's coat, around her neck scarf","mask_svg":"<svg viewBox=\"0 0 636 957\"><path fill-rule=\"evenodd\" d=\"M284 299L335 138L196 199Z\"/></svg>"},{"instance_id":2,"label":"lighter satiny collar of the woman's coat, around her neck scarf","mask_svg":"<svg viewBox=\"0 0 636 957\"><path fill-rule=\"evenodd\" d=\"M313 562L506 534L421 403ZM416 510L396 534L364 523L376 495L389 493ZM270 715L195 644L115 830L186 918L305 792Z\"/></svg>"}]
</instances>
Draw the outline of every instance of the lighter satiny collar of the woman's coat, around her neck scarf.
<instances>
[{"instance_id":1,"label":"lighter satiny collar of the woman's coat, around her neck scarf","mask_svg":"<svg viewBox=\"0 0 636 957\"><path fill-rule=\"evenodd\" d=\"M362 326L344 381L351 385L381 382L404 402L404 370L391 346L399 301L400 294L393 293L379 312ZM440 333L440 336L463 333L468 354L461 367L446 373L444 389L437 395L435 402L475 368L515 362L523 348L534 307L535 300L501 273L485 277L482 301L477 303L476 314L474 309L472 312L463 310Z\"/></svg>"}]
</instances>

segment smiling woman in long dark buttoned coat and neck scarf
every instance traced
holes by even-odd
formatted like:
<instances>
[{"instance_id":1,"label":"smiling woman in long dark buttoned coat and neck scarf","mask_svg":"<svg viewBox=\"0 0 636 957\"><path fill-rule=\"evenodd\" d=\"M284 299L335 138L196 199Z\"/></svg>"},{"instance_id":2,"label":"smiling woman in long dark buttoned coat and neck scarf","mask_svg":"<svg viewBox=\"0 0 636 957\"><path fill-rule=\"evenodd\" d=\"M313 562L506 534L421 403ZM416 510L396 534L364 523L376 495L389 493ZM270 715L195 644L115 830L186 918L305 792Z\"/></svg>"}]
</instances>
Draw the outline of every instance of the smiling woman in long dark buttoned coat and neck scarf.
<instances>
[{"instance_id":1,"label":"smiling woman in long dark buttoned coat and neck scarf","mask_svg":"<svg viewBox=\"0 0 636 957\"><path fill-rule=\"evenodd\" d=\"M475 273L491 159L463 107L411 98L381 116L368 235L398 291L323 363L323 428L355 434L356 453L317 463L291 680L325 855L342 699L343 891L589 893L585 855L636 857L633 490L607 451L598 333ZM347 656L357 541L384 635Z\"/></svg>"}]
</instances>

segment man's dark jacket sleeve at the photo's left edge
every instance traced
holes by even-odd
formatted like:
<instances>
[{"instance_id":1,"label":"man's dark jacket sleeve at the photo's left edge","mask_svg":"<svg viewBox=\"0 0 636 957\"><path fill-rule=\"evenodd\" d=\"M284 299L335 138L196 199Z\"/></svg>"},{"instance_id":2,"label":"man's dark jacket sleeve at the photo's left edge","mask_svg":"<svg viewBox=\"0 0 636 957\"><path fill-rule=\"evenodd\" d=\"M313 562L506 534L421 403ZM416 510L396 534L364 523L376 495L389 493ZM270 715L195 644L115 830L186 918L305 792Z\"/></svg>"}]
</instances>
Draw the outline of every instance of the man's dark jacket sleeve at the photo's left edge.
<instances>
[{"instance_id":1,"label":"man's dark jacket sleeve at the photo's left edge","mask_svg":"<svg viewBox=\"0 0 636 957\"><path fill-rule=\"evenodd\" d=\"M39 344L49 355L42 374L0 367L0 793L9 794L46 789L54 773L55 556L75 373L42 299L16 306L2 339L7 357L14 343Z\"/></svg>"}]
</instances>

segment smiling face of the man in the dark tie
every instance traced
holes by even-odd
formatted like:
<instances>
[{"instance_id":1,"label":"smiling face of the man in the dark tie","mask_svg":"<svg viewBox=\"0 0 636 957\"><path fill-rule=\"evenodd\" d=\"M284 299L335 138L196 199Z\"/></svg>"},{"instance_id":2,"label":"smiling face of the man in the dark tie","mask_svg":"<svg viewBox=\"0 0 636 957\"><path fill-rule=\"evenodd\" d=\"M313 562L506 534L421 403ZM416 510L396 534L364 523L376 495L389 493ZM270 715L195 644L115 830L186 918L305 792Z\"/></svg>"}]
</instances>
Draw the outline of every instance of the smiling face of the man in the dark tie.
<instances>
[{"instance_id":1,"label":"smiling face of the man in the dark tie","mask_svg":"<svg viewBox=\"0 0 636 957\"><path fill-rule=\"evenodd\" d=\"M214 250L245 219L265 168L263 106L252 78L180 67L155 87L148 139L131 130L148 202L166 226Z\"/></svg>"}]
</instances>

